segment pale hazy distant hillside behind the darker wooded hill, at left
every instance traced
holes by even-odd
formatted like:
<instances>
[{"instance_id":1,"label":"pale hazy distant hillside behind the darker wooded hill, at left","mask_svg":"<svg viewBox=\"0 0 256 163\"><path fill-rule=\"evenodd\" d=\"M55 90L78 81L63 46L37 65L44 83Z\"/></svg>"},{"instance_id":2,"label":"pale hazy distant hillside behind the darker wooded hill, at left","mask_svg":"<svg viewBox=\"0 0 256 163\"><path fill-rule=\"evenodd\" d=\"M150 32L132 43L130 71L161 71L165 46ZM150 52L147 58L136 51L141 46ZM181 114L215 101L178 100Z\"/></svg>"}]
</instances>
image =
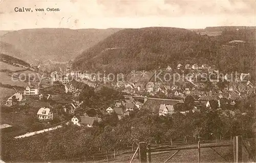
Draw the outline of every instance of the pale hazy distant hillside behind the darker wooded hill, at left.
<instances>
[{"instance_id":1,"label":"pale hazy distant hillside behind the darker wooded hill, at left","mask_svg":"<svg viewBox=\"0 0 256 163\"><path fill-rule=\"evenodd\" d=\"M119 30L26 29L6 33L1 36L1 41L12 44L12 49L25 51L22 56L16 56L16 53L10 55L30 63L38 63L35 60L44 61L46 58L67 61Z\"/></svg>"}]
</instances>

